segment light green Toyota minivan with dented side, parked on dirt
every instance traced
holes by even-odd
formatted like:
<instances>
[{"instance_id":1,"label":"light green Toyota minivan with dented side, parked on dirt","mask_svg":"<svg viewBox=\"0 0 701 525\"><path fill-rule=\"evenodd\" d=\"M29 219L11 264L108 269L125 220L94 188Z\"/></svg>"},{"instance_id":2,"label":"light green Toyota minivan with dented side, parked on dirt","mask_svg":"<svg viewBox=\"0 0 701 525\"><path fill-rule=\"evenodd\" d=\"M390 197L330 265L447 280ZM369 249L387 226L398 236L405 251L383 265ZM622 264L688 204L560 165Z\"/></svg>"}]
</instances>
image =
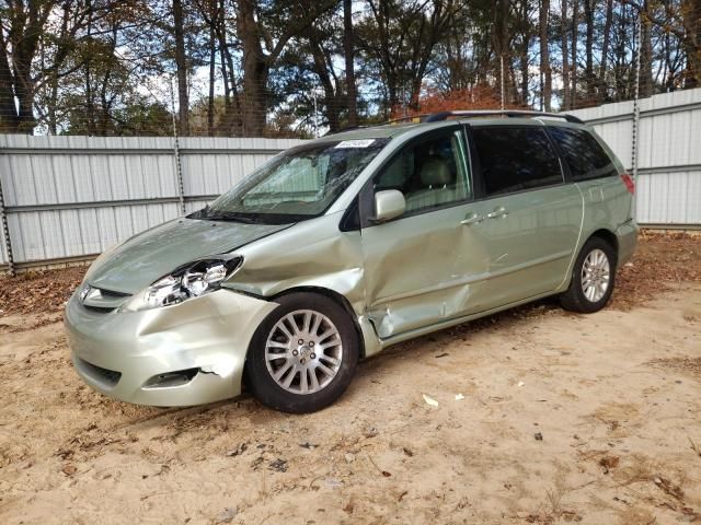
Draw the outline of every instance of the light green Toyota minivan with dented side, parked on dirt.
<instances>
[{"instance_id":1,"label":"light green Toyota minivan with dented side, parked on dirt","mask_svg":"<svg viewBox=\"0 0 701 525\"><path fill-rule=\"evenodd\" d=\"M66 306L78 374L129 402L308 412L358 360L556 295L602 308L634 183L576 117L450 112L271 159L100 256Z\"/></svg>"}]
</instances>

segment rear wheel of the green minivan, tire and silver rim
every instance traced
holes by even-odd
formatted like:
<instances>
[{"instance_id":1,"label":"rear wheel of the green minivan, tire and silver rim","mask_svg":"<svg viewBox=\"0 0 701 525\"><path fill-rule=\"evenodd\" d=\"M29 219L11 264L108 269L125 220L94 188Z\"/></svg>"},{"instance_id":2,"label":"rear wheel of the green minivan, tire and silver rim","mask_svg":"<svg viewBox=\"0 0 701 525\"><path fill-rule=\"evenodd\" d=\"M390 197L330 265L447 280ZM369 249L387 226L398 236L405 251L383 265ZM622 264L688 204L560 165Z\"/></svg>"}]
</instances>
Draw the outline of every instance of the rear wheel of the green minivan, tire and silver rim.
<instances>
[{"instance_id":1,"label":"rear wheel of the green minivan, tire and silver rim","mask_svg":"<svg viewBox=\"0 0 701 525\"><path fill-rule=\"evenodd\" d=\"M589 238L574 264L570 288L560 295L562 307L582 314L605 307L613 293L616 267L616 249L601 237Z\"/></svg>"}]
</instances>

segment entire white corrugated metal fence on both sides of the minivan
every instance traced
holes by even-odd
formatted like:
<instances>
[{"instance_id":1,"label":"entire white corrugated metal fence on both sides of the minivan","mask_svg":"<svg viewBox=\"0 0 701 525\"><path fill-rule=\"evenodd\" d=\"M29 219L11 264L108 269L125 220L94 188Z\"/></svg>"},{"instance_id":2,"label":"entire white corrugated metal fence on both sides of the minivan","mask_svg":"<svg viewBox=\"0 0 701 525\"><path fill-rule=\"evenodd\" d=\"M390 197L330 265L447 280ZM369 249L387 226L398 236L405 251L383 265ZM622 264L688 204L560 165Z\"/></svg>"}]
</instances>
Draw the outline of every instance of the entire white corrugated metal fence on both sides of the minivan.
<instances>
[{"instance_id":1,"label":"entire white corrugated metal fence on both sides of the minivan","mask_svg":"<svg viewBox=\"0 0 701 525\"><path fill-rule=\"evenodd\" d=\"M633 167L633 102L572 112ZM701 89L640 102L637 221L701 228ZM0 268L81 260L203 207L297 139L0 136ZM180 159L180 163L176 162ZM2 208L0 206L0 208ZM2 231L0 231L2 234ZM8 235L2 235L8 236Z\"/></svg>"}]
</instances>

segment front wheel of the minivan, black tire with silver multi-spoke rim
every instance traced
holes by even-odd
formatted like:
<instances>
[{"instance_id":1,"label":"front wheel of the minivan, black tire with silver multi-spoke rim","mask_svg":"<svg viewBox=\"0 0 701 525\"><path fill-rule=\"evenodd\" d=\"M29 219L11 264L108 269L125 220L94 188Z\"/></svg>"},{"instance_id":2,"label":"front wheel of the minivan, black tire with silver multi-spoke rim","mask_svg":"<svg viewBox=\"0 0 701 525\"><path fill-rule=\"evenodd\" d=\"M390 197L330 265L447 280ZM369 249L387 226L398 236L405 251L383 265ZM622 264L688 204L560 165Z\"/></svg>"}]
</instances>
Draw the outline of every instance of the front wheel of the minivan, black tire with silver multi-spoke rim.
<instances>
[{"instance_id":1,"label":"front wheel of the minivan, black tire with silver multi-spoke rim","mask_svg":"<svg viewBox=\"0 0 701 525\"><path fill-rule=\"evenodd\" d=\"M263 405L276 410L321 410L345 392L358 363L353 320L325 295L290 293L275 302L279 306L251 340L249 386Z\"/></svg>"}]
</instances>

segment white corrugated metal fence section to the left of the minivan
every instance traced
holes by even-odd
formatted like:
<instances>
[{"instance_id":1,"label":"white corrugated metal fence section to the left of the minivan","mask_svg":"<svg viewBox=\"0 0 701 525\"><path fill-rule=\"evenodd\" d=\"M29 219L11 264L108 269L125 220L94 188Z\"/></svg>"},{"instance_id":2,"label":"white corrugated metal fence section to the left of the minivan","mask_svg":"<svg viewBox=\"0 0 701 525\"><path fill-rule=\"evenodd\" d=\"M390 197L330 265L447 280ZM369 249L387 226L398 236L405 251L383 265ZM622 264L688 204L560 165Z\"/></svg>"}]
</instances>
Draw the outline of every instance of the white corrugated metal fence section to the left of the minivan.
<instances>
[{"instance_id":1,"label":"white corrugated metal fence section to the left of the minivan","mask_svg":"<svg viewBox=\"0 0 701 525\"><path fill-rule=\"evenodd\" d=\"M294 139L180 140L188 212ZM80 257L180 214L170 138L0 136L0 177L16 262ZM194 199L189 199L194 197ZM4 249L0 264L7 262Z\"/></svg>"}]
</instances>

